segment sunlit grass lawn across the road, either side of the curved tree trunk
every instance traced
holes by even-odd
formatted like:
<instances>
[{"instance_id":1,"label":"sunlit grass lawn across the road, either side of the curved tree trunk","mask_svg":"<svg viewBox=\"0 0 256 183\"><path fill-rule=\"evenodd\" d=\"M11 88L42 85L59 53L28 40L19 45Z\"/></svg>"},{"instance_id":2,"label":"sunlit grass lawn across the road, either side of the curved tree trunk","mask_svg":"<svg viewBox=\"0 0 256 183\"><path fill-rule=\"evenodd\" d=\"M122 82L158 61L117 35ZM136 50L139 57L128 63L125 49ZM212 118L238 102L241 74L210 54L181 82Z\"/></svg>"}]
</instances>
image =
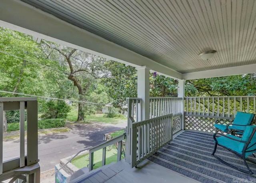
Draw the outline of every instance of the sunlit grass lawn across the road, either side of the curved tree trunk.
<instances>
[{"instance_id":1,"label":"sunlit grass lawn across the road, either side of the curved tree trunk","mask_svg":"<svg viewBox=\"0 0 256 183\"><path fill-rule=\"evenodd\" d=\"M75 107L72 107L71 111L68 113L67 119L69 121L76 121L77 120L78 111ZM123 118L110 118L105 117L105 114L92 114L92 115L86 115L86 120L88 121L98 121L102 123L124 123L127 121L125 117Z\"/></svg>"}]
</instances>

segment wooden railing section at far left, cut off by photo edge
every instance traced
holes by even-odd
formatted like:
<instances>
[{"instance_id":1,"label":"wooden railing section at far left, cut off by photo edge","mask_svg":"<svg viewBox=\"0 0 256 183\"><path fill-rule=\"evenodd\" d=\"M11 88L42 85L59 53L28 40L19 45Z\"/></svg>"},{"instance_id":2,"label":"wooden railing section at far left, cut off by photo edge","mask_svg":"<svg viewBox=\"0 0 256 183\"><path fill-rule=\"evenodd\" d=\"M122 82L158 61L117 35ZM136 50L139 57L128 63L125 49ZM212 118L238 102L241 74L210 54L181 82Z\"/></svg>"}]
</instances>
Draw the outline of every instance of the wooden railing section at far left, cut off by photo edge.
<instances>
[{"instance_id":1,"label":"wooden railing section at far left, cut off by photo edge","mask_svg":"<svg viewBox=\"0 0 256 183\"><path fill-rule=\"evenodd\" d=\"M27 155L25 155L25 109L27 109ZM20 110L20 156L3 160L4 111ZM21 180L22 183L40 182L38 164L37 99L32 97L0 97L0 182Z\"/></svg>"}]
</instances>

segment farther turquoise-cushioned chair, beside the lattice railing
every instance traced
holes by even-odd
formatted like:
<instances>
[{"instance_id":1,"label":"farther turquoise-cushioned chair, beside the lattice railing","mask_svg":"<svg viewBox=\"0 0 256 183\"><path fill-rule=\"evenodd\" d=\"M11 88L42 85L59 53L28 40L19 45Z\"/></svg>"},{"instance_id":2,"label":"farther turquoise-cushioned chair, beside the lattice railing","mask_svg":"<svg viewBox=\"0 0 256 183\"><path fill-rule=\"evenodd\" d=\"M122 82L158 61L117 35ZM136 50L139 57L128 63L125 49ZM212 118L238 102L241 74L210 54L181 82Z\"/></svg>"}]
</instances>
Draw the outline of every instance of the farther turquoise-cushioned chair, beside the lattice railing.
<instances>
[{"instance_id":1,"label":"farther turquoise-cushioned chair, beside the lattice railing","mask_svg":"<svg viewBox=\"0 0 256 183\"><path fill-rule=\"evenodd\" d=\"M254 114L237 112L234 121L228 123L227 125L218 124L218 122L222 121L221 119L216 119L214 127L216 128L216 133L218 131L222 131L228 133L232 130L244 131L246 125L251 125L252 120L254 118Z\"/></svg>"}]
</instances>

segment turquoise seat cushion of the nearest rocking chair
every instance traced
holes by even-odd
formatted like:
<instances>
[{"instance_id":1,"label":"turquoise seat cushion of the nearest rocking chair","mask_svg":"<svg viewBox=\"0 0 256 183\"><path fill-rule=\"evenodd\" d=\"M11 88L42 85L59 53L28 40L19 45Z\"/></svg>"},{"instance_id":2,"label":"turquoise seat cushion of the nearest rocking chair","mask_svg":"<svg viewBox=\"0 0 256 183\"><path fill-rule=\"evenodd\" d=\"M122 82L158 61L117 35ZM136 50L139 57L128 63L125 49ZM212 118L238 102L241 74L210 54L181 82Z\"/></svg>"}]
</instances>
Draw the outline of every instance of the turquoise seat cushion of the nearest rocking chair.
<instances>
[{"instance_id":1,"label":"turquoise seat cushion of the nearest rocking chair","mask_svg":"<svg viewBox=\"0 0 256 183\"><path fill-rule=\"evenodd\" d=\"M236 137L234 135L227 135L227 136L234 138L234 139L241 140L239 137ZM235 141L233 139L229 139L224 136L217 137L216 139L217 139L219 145L222 145L224 147L227 147L228 149L236 151L239 154L242 154L242 151L240 150L240 142L239 141Z\"/></svg>"}]
</instances>

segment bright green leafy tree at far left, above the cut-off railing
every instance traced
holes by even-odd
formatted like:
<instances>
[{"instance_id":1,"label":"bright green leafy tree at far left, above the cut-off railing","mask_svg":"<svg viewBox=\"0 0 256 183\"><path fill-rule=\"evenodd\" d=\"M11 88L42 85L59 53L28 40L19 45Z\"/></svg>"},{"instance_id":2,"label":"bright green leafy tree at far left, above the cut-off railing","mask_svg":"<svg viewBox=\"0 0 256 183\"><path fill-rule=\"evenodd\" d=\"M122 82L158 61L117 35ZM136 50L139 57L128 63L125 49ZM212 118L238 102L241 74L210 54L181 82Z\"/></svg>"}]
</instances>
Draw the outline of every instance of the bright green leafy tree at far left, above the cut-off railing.
<instances>
[{"instance_id":1,"label":"bright green leafy tree at far left, above the cut-off railing","mask_svg":"<svg viewBox=\"0 0 256 183\"><path fill-rule=\"evenodd\" d=\"M36 63L43 61L40 45L36 44L29 35L0 27L0 51L0 90L43 95L45 91L43 88L46 85L40 77L42 71L34 63L28 62L28 60ZM0 93L0 96L13 95ZM4 113L4 131L6 130L7 119Z\"/></svg>"}]
</instances>

